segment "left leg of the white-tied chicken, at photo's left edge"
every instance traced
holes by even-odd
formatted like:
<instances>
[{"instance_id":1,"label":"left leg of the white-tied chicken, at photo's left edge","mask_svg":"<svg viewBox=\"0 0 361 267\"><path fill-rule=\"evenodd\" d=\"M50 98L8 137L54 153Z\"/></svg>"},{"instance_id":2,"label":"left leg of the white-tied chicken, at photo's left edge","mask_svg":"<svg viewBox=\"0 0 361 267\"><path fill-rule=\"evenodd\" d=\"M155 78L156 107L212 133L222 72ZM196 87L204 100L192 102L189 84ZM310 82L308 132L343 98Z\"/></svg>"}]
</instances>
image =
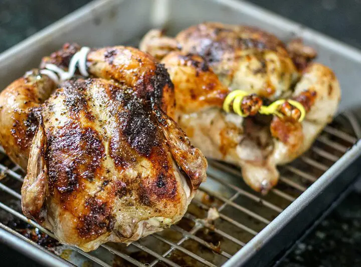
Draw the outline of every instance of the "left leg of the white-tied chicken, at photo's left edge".
<instances>
[{"instance_id":1,"label":"left leg of the white-tied chicken, at photo's left edge","mask_svg":"<svg viewBox=\"0 0 361 267\"><path fill-rule=\"evenodd\" d=\"M48 77L20 78L0 95L0 142L9 157L27 168L30 146L38 126L40 104L55 89Z\"/></svg>"}]
</instances>

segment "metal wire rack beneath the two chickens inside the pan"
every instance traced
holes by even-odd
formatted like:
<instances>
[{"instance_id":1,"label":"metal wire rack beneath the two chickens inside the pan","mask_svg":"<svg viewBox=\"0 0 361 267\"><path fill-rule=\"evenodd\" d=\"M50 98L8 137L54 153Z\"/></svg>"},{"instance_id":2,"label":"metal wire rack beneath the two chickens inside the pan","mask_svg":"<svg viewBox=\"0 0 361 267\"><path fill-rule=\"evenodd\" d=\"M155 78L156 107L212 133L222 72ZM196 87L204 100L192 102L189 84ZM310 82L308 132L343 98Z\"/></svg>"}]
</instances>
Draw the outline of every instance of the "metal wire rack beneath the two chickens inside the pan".
<instances>
[{"instance_id":1,"label":"metal wire rack beneath the two chickens inside the pan","mask_svg":"<svg viewBox=\"0 0 361 267\"><path fill-rule=\"evenodd\" d=\"M338 116L296 161L280 167L279 184L266 196L244 184L239 169L209 162L208 180L202 184L185 217L162 232L129 246L106 243L84 252L60 245L54 235L21 213L23 171L0 154L0 227L81 266L220 266L280 214L357 141L355 122ZM210 208L219 218L207 219Z\"/></svg>"}]
</instances>

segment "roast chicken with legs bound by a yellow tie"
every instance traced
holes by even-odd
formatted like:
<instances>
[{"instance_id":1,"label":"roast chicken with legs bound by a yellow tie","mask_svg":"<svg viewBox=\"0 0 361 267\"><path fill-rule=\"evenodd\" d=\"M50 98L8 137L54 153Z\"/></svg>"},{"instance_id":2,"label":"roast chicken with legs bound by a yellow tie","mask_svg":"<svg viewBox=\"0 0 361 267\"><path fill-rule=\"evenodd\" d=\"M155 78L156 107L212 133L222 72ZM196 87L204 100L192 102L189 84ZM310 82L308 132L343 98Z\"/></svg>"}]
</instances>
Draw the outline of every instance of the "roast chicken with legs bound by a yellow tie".
<instances>
[{"instance_id":1,"label":"roast chicken with legs bound by a yellow tie","mask_svg":"<svg viewBox=\"0 0 361 267\"><path fill-rule=\"evenodd\" d=\"M277 165L305 152L332 120L340 100L333 72L313 63L315 51L301 40L286 45L259 29L203 23L175 38L161 30L146 34L140 49L163 63L174 84L178 122L206 157L241 167L245 182L266 193L279 177ZM225 112L233 90L249 95L245 116ZM261 115L262 105L298 101L306 112L285 102L278 112Z\"/></svg>"}]
</instances>

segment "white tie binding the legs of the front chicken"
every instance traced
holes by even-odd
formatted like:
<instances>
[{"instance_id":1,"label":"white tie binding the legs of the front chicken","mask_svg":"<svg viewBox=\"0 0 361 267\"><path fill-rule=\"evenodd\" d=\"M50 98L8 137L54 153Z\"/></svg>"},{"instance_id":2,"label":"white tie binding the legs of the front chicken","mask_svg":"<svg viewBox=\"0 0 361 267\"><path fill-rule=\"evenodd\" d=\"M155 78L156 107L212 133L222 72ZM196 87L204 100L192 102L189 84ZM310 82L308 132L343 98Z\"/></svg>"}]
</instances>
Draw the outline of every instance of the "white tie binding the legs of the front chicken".
<instances>
[{"instance_id":1,"label":"white tie binding the legs of the front chicken","mask_svg":"<svg viewBox=\"0 0 361 267\"><path fill-rule=\"evenodd\" d=\"M82 47L80 51L75 53L70 60L68 72L54 64L46 64L45 69L40 70L40 73L47 75L50 79L58 84L62 81L71 79L74 76L76 67L78 65L80 74L84 77L88 77L89 73L86 70L86 59L89 51L89 47Z\"/></svg>"}]
</instances>

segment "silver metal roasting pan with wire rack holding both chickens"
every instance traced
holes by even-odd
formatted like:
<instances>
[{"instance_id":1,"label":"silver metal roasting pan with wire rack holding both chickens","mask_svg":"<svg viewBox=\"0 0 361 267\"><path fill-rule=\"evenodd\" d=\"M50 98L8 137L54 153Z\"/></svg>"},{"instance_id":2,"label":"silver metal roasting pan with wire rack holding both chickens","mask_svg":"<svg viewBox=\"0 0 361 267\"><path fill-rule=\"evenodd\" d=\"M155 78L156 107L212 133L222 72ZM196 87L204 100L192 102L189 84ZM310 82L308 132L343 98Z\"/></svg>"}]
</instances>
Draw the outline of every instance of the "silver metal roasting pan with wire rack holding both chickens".
<instances>
[{"instance_id":1,"label":"silver metal roasting pan with wire rack holding both chickens","mask_svg":"<svg viewBox=\"0 0 361 267\"><path fill-rule=\"evenodd\" d=\"M137 46L151 28L162 27L175 35L204 21L257 26L284 41L301 37L317 50L317 61L331 67L340 81L342 100L336 122L326 127L309 152L280 168L279 185L261 196L244 184L238 169L210 161L209 178L182 223L128 247L105 244L85 253L69 246L41 246L19 231L16 221L25 221L52 236L21 214L24 173L2 152L0 241L47 266L269 266L349 187L361 164L361 52L246 2L92 2L0 54L0 88L36 68L44 55L66 42L89 47ZM202 219L210 206L221 213L214 225Z\"/></svg>"}]
</instances>

